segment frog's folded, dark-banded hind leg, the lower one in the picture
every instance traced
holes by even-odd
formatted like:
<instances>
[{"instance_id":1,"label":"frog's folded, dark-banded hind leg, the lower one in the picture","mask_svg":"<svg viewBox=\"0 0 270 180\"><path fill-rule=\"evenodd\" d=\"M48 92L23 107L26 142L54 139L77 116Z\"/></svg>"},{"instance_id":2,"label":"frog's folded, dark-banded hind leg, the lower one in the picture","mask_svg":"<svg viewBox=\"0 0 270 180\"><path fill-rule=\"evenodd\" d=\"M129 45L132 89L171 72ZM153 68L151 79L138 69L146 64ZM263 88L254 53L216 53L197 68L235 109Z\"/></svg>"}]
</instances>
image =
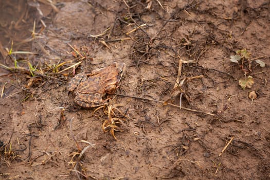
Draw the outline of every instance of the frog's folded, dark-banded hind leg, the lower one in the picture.
<instances>
[{"instance_id":1,"label":"frog's folded, dark-banded hind leg, the lower one in the picture","mask_svg":"<svg viewBox=\"0 0 270 180\"><path fill-rule=\"evenodd\" d=\"M103 100L102 95L98 93L79 94L75 97L74 101L84 108L98 107L106 103L106 100Z\"/></svg>"}]
</instances>

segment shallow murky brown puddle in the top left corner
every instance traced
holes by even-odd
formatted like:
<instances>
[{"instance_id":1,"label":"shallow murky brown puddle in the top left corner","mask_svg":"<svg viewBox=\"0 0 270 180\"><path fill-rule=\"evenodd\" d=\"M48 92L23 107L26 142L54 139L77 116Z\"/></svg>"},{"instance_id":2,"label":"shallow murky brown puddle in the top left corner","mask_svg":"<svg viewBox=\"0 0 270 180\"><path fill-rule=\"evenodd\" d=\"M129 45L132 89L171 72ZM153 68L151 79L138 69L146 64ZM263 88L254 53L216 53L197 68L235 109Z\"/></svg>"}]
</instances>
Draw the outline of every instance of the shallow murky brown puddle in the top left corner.
<instances>
[{"instance_id":1,"label":"shallow murky brown puddle in the top left corner","mask_svg":"<svg viewBox=\"0 0 270 180\"><path fill-rule=\"evenodd\" d=\"M34 20L39 17L37 8L27 1L10 0L0 2L0 52L6 57L13 41L13 51L31 51L31 34ZM37 27L39 28L39 27Z\"/></svg>"}]
</instances>

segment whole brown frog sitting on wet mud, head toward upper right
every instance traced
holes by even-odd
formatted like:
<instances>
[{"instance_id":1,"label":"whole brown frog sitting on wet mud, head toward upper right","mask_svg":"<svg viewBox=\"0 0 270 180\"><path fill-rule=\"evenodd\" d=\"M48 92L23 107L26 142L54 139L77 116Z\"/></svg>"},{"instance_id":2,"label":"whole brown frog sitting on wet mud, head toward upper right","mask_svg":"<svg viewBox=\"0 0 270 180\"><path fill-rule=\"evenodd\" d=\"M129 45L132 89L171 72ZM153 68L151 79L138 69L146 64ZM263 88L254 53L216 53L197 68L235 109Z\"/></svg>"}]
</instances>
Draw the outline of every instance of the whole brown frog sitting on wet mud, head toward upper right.
<instances>
[{"instance_id":1,"label":"whole brown frog sitting on wet mud, head toward upper right","mask_svg":"<svg viewBox=\"0 0 270 180\"><path fill-rule=\"evenodd\" d=\"M117 84L125 70L124 63L114 62L112 65L95 69L89 74L78 74L72 78L67 86L68 91L74 92L74 101L84 107L97 107L104 105L105 94L114 94Z\"/></svg>"}]
</instances>

